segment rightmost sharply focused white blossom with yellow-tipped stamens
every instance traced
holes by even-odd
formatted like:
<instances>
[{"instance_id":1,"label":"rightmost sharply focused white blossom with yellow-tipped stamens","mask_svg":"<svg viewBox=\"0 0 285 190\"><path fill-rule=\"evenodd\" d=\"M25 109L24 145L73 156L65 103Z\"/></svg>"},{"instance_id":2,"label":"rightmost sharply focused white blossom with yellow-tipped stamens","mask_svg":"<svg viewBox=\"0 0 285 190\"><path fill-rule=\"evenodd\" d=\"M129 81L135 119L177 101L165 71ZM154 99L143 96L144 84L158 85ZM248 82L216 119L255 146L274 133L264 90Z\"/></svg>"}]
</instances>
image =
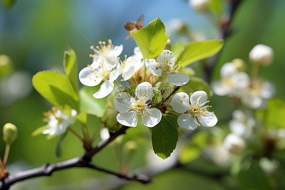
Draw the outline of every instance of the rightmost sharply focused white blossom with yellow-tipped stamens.
<instances>
[{"instance_id":1,"label":"rightmost sharply focused white blossom with yellow-tipped stamens","mask_svg":"<svg viewBox=\"0 0 285 190\"><path fill-rule=\"evenodd\" d=\"M177 122L182 128L194 130L199 125L211 127L216 125L218 119L213 112L207 111L208 96L205 91L195 91L190 97L185 92L176 93L171 101L172 109L182 113Z\"/></svg>"}]
</instances>

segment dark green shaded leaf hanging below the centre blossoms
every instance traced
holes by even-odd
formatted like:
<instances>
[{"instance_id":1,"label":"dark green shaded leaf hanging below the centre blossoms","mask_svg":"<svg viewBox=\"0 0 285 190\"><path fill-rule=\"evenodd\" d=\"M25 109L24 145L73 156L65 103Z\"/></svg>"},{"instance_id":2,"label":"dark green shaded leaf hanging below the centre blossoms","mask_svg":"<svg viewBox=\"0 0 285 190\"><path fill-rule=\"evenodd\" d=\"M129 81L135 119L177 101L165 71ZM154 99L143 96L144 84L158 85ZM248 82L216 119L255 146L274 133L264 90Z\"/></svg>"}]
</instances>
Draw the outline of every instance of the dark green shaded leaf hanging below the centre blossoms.
<instances>
[{"instance_id":1,"label":"dark green shaded leaf hanging below the centre blossoms","mask_svg":"<svg viewBox=\"0 0 285 190\"><path fill-rule=\"evenodd\" d=\"M161 121L152 128L152 145L154 152L166 159L175 149L178 141L177 117L163 114Z\"/></svg>"}]
</instances>

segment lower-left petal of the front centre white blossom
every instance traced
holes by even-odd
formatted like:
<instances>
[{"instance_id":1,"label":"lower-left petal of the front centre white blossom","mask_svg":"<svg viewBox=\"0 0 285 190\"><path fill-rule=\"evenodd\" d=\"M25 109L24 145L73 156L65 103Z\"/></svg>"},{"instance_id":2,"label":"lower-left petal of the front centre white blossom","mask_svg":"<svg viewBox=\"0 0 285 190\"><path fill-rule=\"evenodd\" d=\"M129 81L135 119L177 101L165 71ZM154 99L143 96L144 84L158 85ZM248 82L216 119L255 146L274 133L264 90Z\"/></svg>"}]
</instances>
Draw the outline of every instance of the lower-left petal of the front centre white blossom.
<instances>
[{"instance_id":1,"label":"lower-left petal of the front centre white blossom","mask_svg":"<svg viewBox=\"0 0 285 190\"><path fill-rule=\"evenodd\" d=\"M136 126L137 125L137 113L136 111L128 111L126 113L119 113L117 115L117 121L122 125Z\"/></svg>"}]
</instances>

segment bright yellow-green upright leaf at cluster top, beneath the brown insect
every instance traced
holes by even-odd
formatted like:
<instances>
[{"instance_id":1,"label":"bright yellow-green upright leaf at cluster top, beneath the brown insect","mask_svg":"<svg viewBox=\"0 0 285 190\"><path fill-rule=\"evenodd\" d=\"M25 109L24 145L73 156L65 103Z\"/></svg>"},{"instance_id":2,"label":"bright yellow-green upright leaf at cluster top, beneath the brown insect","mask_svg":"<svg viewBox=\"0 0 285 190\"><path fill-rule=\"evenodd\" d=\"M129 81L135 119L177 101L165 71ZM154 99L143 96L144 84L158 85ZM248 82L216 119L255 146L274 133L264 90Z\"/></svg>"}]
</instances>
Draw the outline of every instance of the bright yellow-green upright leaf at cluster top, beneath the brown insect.
<instances>
[{"instance_id":1,"label":"bright yellow-green upright leaf at cluster top, beneath the brown insect","mask_svg":"<svg viewBox=\"0 0 285 190\"><path fill-rule=\"evenodd\" d=\"M144 59L158 57L167 42L165 26L160 18L151 21L146 27L138 31L130 31Z\"/></svg>"}]
</instances>

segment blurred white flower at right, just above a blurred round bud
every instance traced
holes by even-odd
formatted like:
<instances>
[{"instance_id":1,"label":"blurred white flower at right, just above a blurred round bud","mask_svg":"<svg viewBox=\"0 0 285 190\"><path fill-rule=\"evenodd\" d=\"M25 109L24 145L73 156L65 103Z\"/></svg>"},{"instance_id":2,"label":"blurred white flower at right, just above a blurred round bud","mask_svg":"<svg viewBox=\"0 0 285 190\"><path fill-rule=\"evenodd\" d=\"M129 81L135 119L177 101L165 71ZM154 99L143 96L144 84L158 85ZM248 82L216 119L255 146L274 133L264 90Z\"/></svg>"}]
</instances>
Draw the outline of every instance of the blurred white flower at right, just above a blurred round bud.
<instances>
[{"instance_id":1,"label":"blurred white flower at right, just above a blurred round bud","mask_svg":"<svg viewBox=\"0 0 285 190\"><path fill-rule=\"evenodd\" d=\"M252 113L241 110L233 111L233 119L229 122L230 131L238 136L251 138L256 120Z\"/></svg>"}]
</instances>

